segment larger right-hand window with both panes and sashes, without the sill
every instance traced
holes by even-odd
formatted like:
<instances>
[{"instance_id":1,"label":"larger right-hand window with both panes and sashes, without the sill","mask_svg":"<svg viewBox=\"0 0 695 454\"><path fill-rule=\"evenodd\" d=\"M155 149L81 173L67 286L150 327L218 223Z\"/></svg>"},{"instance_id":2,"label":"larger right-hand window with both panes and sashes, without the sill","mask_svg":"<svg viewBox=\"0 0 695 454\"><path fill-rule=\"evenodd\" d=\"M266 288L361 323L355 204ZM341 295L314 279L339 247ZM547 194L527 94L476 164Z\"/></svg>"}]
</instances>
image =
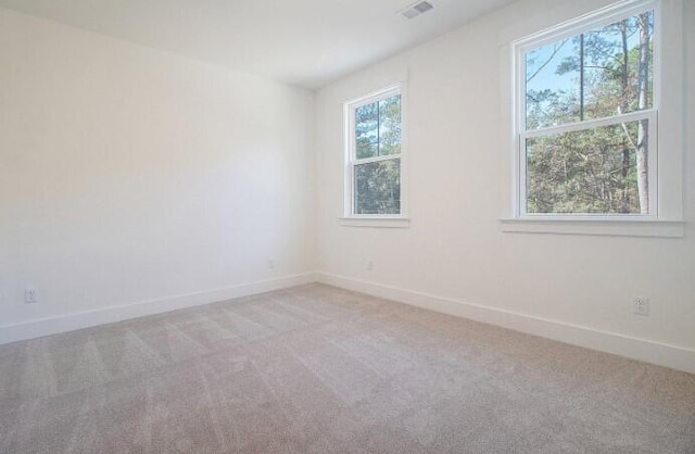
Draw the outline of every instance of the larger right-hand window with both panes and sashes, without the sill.
<instances>
[{"instance_id":1,"label":"larger right-hand window with both panes and sashes, without the sill","mask_svg":"<svg viewBox=\"0 0 695 454\"><path fill-rule=\"evenodd\" d=\"M515 45L519 216L657 216L656 5Z\"/></svg>"}]
</instances>

